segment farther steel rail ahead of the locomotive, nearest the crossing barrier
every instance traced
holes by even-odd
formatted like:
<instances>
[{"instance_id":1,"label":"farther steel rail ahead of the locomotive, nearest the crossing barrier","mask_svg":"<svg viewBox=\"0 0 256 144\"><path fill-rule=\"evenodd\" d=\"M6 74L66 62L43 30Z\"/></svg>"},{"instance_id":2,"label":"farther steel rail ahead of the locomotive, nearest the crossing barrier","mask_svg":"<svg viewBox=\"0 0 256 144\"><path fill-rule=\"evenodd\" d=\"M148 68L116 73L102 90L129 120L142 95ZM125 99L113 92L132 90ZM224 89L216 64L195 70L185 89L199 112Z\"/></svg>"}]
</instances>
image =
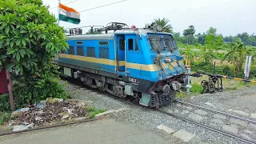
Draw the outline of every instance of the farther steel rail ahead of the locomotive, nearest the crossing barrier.
<instances>
[{"instance_id":1,"label":"farther steel rail ahead of the locomotive, nearest the crossing barrier","mask_svg":"<svg viewBox=\"0 0 256 144\"><path fill-rule=\"evenodd\" d=\"M175 100L174 102L178 102L180 104L184 104L184 105L187 105L187 106L194 106L194 107L197 107L201 110L208 110L208 111L211 111L211 112L214 112L215 114L223 114L223 115L226 115L227 117L230 117L230 118L236 118L236 119L240 119L242 121L246 121L246 122L251 122L251 123L254 123L256 124L256 121L254 120L251 120L251 119L248 119L248 118L242 118L242 117L238 117L236 115L233 115L233 114L227 114L227 113L224 113L222 111L218 111L218 110L211 110L209 108L206 108L206 107L203 107L203 106L197 106L197 105L194 105L192 103L189 103L189 102L182 102L182 101L178 101L178 100Z\"/></svg>"}]
</instances>

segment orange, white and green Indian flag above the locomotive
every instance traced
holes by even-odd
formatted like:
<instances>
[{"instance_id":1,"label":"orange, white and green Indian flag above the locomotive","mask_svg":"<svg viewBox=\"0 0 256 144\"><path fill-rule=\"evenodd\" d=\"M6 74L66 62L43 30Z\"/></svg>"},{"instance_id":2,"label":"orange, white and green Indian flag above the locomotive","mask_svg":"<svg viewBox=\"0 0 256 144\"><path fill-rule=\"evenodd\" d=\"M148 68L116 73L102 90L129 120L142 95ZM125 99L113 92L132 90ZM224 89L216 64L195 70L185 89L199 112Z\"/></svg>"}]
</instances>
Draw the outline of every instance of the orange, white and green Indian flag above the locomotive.
<instances>
[{"instance_id":1,"label":"orange, white and green Indian flag above the locomotive","mask_svg":"<svg viewBox=\"0 0 256 144\"><path fill-rule=\"evenodd\" d=\"M74 24L80 23L80 13L70 7L59 3L58 18L60 21L70 22Z\"/></svg>"}]
</instances>

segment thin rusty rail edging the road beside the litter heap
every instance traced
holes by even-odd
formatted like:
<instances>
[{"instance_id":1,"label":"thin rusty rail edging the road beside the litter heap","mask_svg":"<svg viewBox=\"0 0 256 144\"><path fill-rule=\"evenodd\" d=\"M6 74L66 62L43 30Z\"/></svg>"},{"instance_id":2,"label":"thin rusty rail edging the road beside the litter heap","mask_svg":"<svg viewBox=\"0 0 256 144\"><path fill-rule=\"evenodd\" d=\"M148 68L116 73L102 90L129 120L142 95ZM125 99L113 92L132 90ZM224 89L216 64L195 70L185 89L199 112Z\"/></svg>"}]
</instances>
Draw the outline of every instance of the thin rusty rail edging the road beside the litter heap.
<instances>
[{"instance_id":1,"label":"thin rusty rail edging the road beside the litter heap","mask_svg":"<svg viewBox=\"0 0 256 144\"><path fill-rule=\"evenodd\" d=\"M50 129L50 128L59 127L59 126L74 125L74 124L78 124L78 123L82 123L82 122L91 122L91 121L96 121L96 120L100 120L100 119L102 119L102 117L93 118L93 119L78 120L78 121L75 121L75 122L66 122L66 123L56 124L56 125L51 125L51 126L42 126L42 127L37 127L37 128L33 128L33 129L27 129L27 130L12 131L12 132L8 132L8 133L0 134L0 137L5 136L5 135L10 135L10 134L25 133L25 132L34 131L34 130L43 130L43 129Z\"/></svg>"}]
</instances>

